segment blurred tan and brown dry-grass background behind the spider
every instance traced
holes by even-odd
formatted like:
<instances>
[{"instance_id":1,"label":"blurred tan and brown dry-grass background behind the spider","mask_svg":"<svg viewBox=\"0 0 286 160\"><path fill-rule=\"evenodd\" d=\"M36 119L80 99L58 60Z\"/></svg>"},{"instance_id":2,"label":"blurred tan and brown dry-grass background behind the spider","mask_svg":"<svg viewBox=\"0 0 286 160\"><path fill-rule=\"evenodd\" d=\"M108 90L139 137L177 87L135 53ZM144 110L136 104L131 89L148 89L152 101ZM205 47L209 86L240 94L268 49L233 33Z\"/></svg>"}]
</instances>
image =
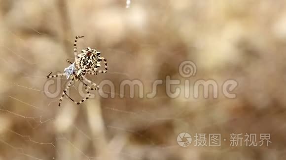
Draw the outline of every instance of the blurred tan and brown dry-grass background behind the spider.
<instances>
[{"instance_id":1,"label":"blurred tan and brown dry-grass background behind the spider","mask_svg":"<svg viewBox=\"0 0 286 160\"><path fill-rule=\"evenodd\" d=\"M78 51L107 58L107 74L88 78L110 80L115 91L104 86L108 98L93 92L81 105L64 98L58 107L61 93L46 96L46 76L74 60L75 36L85 36ZM285 0L0 0L0 37L0 160L286 158ZM185 60L196 64L195 76L180 76ZM190 86L233 79L236 98L221 90L218 98L169 98L166 76ZM62 90L67 80L59 80ZM122 80L141 80L144 93L164 83L154 98L136 90L120 98ZM76 87L70 94L82 99ZM183 132L193 138L188 147L177 143ZM195 146L195 133L219 133L221 146ZM271 143L232 147L232 133L255 133L257 142L269 133Z\"/></svg>"}]
</instances>

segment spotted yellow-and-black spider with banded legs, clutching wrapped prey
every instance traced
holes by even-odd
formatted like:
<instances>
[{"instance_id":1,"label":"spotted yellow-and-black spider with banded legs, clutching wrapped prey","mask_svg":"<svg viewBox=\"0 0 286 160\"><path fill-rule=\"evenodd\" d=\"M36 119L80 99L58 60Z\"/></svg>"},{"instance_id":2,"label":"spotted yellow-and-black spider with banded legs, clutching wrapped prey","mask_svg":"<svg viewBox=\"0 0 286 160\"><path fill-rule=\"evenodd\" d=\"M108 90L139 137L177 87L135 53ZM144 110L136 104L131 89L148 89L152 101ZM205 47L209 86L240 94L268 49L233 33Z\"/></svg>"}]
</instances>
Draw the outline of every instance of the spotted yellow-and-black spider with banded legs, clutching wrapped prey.
<instances>
[{"instance_id":1,"label":"spotted yellow-and-black spider with banded legs, clutching wrapped prey","mask_svg":"<svg viewBox=\"0 0 286 160\"><path fill-rule=\"evenodd\" d=\"M97 75L98 73L107 73L107 59L100 56L100 52L96 51L95 49L91 49L87 47L84 50L81 50L80 54L77 54L77 48L76 48L76 42L78 38L83 38L84 36L76 36L74 39L73 44L73 52L74 52L74 62L70 62L68 59L67 62L70 63L70 66L65 68L64 73L60 73L57 75L51 76L52 72L47 76L47 78L55 78L60 76L67 76L67 79L70 80L68 85L63 91L63 94L59 100L59 107L61 106L61 103L63 101L63 98L65 95L67 95L72 102L79 105L89 99L91 96L89 90L97 90L99 89L99 85L92 82L91 80L88 80L85 78L86 75ZM100 62L104 60L105 63L105 70L99 70L97 71L97 68L99 68ZM87 92L88 96L83 98L79 102L75 102L66 92L70 89L70 87L73 85L74 82L81 81L85 85L85 91ZM95 88L88 86L84 81L88 82L89 84L93 85Z\"/></svg>"}]
</instances>

